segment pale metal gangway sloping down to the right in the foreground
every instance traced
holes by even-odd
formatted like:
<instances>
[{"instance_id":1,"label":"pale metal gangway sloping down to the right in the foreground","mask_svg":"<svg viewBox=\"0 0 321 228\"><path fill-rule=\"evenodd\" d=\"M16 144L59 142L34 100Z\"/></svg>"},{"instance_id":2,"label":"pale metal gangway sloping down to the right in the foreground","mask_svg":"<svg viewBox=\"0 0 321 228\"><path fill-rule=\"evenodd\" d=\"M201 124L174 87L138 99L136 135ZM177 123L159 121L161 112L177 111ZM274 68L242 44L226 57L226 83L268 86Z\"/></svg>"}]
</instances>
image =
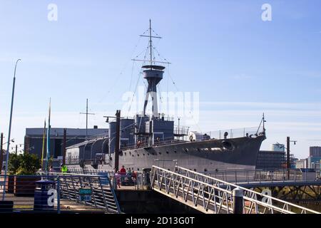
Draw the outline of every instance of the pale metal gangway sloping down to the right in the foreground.
<instances>
[{"instance_id":1,"label":"pale metal gangway sloping down to the right in the foreground","mask_svg":"<svg viewBox=\"0 0 321 228\"><path fill-rule=\"evenodd\" d=\"M153 166L151 187L156 192L207 214L233 213L234 190L243 190L243 214L320 214L179 166L175 166L174 171Z\"/></svg>"}]
</instances>

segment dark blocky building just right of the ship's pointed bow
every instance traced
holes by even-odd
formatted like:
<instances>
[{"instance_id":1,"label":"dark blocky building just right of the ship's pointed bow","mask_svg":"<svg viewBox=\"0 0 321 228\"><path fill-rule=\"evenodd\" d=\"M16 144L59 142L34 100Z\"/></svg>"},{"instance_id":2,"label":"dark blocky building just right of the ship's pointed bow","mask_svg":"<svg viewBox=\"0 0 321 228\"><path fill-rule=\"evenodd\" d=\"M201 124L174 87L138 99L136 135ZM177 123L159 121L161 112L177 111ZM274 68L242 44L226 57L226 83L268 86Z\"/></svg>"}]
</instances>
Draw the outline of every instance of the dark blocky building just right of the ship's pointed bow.
<instances>
[{"instance_id":1,"label":"dark blocky building just right of the ship's pointed bow","mask_svg":"<svg viewBox=\"0 0 321 228\"><path fill-rule=\"evenodd\" d=\"M277 148L277 150L275 150ZM260 150L256 169L258 170L280 170L285 168L286 154L284 145L272 145L273 150Z\"/></svg>"}]
</instances>

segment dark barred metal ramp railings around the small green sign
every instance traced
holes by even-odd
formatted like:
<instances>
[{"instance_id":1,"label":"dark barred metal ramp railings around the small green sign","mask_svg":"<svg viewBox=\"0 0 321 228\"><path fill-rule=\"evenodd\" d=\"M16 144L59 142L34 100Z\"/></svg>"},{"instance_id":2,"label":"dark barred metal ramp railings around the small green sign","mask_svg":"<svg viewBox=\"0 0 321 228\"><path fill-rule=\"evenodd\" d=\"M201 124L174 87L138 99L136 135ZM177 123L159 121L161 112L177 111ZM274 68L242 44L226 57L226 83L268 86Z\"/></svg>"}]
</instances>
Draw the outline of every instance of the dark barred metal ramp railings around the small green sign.
<instances>
[{"instance_id":1,"label":"dark barred metal ramp railings around the small green sign","mask_svg":"<svg viewBox=\"0 0 321 228\"><path fill-rule=\"evenodd\" d=\"M58 174L61 199L68 199L79 204L104 209L108 213L121 213L111 181L106 175L73 175ZM80 189L90 189L91 201L81 202L79 200Z\"/></svg>"}]
</instances>

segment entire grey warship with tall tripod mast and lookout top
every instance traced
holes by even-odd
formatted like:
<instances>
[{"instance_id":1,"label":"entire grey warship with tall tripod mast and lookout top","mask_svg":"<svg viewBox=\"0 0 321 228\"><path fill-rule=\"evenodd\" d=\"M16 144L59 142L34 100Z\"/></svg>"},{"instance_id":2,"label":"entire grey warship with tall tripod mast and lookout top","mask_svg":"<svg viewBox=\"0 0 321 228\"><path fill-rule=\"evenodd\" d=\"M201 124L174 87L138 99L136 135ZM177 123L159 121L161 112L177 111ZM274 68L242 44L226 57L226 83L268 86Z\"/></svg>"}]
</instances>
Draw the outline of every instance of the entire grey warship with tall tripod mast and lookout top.
<instances>
[{"instance_id":1,"label":"entire grey warship with tall tripod mast and lookout top","mask_svg":"<svg viewBox=\"0 0 321 228\"><path fill-rule=\"evenodd\" d=\"M119 116L118 126L116 120L107 120L108 135L68 147L68 167L113 170L117 162L120 166L137 171L151 168L152 165L169 170L180 165L197 172L255 169L260 145L266 138L264 114L254 133L246 133L244 130L241 137L234 138L232 133L226 131L222 133L223 137L211 138L208 134L189 132L189 128L179 123L175 125L173 118L165 118L164 114L158 113L157 85L163 79L163 65L166 62L155 61L153 58L152 38L161 37L152 35L151 21L147 31L149 36L141 36L149 38L149 60L133 60L143 61L143 78L148 84L143 112L133 118ZM146 107L149 100L151 113L148 114Z\"/></svg>"}]
</instances>

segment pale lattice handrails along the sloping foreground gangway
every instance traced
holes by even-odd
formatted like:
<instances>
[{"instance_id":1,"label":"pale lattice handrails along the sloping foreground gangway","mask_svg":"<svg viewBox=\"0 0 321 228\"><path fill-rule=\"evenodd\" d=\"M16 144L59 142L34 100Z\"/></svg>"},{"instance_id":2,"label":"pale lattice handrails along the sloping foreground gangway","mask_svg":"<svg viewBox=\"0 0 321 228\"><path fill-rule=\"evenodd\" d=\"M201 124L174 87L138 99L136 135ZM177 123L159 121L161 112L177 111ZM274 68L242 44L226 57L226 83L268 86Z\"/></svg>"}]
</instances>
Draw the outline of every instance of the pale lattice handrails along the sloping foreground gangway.
<instances>
[{"instance_id":1,"label":"pale lattice handrails along the sloping foreground gangway","mask_svg":"<svg viewBox=\"0 0 321 228\"><path fill-rule=\"evenodd\" d=\"M183 173L185 171L185 175ZM159 172L162 172L160 175ZM194 175L194 177L190 177L190 175ZM174 180L175 176L175 180ZM255 213L261 213L258 209L258 206L263 206L264 211L266 212L267 210L269 212L281 212L285 214L292 214L295 212L292 212L289 210L289 207L300 209L301 213L315 213L315 214L320 214L319 212L315 212L312 209L307 209L305 207L298 206L296 204L292 204L290 202L285 202L281 199L277 199L275 197L270 197L268 195L263 195L259 192L255 192L253 190L248 190L245 187L240 187L238 185L231 184L230 182L225 182L223 180L216 179L214 177L210 177L207 175L203 175L198 172L194 172L188 169L185 169L183 167L175 167L175 172L165 170L161 167L153 166L152 167L152 188L154 190L159 190L162 192L162 186L165 185L165 192L166 194L169 194L170 189L173 189L173 194L178 197L178 191L180 190L179 187L182 185L182 191L180 192L181 195L183 195L183 198L185 197L185 202L189 197L192 197L193 199L193 204L196 204L198 200L203 200L203 209L208 209L208 204L213 204L214 212L220 212L220 209L225 209L225 212L230 212L230 204L233 204L233 199L231 197L232 195L232 190L234 188L239 188L240 190L243 190L244 192L244 197L243 200L249 201L250 202L250 209L246 206L244 206L244 210L248 209L248 212L253 212L253 206L255 207ZM203 177L203 181L199 180L200 177ZM198 178L198 179L196 179ZM185 180L185 183L184 181ZM210 181L212 181L214 184L210 184ZM188 183L189 182L189 183ZM156 183L158 183L158 187L156 187ZM173 187L170 187L170 184L172 183ZM178 185L177 185L178 183ZM192 185L192 186L190 186ZM195 185L199 187L198 193L195 193ZM184 187L183 187L184 186ZM185 187L188 186L188 190L185 189ZM190 190L190 187L193 188L193 190ZM201 190L202 187L202 190ZM207 205L205 207L205 195L204 195L204 187L208 188L208 198L207 200ZM223 188L224 187L224 188ZM176 190L176 192L175 192ZM162 192L163 193L163 192ZM195 196L197 194L197 196ZM200 196L201 194L201 196ZM196 197L196 198L195 198ZM214 202L211 200L211 198L214 197ZM225 198L224 198L225 197ZM277 202L277 204L283 205L283 207L278 207L277 205L272 205L266 202L261 202L258 200L258 197L266 197L267 202ZM224 198L224 199L223 199ZM230 198L230 199L229 199ZM218 199L218 202L215 200ZM226 204L223 207L223 204ZM219 208L217 208L219 207Z\"/></svg>"}]
</instances>

